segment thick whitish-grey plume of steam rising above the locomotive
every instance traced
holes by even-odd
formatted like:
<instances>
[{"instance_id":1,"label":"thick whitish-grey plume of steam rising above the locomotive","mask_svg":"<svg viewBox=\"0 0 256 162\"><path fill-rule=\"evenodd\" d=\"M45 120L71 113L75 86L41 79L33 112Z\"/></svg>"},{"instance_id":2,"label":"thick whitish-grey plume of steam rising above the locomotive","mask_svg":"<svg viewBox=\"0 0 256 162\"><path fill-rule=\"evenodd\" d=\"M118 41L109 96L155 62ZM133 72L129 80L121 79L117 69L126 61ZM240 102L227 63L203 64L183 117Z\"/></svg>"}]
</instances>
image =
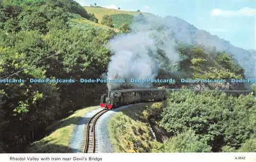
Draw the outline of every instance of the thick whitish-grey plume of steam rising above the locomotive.
<instances>
[{"instance_id":1,"label":"thick whitish-grey plume of steam rising above the locomotive","mask_svg":"<svg viewBox=\"0 0 256 162\"><path fill-rule=\"evenodd\" d=\"M151 84L130 83L135 79L155 79L158 71L166 70L168 64L159 60L160 53L169 62L178 61L179 55L175 51L175 41L168 30L161 29L162 22L147 18L146 22L134 22L132 31L114 37L109 42L109 50L114 55L108 67L108 79L125 79L123 83L109 83L109 90L117 89L120 85L133 87L150 87ZM161 49L161 52L159 52Z\"/></svg>"}]
</instances>

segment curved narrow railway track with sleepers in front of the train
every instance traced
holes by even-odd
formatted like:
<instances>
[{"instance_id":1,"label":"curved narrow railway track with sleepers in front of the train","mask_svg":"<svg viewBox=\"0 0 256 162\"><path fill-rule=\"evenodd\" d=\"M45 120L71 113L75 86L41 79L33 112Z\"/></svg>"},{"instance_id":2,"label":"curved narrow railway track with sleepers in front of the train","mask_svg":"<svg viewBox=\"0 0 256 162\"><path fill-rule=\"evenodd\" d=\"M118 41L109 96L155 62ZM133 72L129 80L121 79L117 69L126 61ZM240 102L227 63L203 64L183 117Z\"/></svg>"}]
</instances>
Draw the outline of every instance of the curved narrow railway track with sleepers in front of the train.
<instances>
[{"instance_id":1,"label":"curved narrow railway track with sleepers in front of the train","mask_svg":"<svg viewBox=\"0 0 256 162\"><path fill-rule=\"evenodd\" d=\"M95 153L96 151L96 135L95 135L95 126L96 122L99 119L99 117L108 111L108 109L102 109L101 111L97 112L93 115L93 117L89 120L89 122L86 125L86 129L84 132L84 145L82 148L83 153Z\"/></svg>"}]
</instances>

